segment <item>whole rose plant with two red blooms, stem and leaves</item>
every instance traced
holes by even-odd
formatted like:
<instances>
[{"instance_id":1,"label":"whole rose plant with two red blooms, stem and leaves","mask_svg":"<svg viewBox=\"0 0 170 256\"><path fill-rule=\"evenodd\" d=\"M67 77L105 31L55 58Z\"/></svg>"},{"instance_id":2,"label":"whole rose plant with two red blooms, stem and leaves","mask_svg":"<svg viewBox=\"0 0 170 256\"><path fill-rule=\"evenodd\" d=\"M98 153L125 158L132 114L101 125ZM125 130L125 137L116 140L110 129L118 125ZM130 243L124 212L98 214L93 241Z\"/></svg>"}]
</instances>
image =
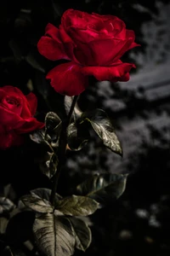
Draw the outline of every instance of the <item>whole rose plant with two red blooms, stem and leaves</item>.
<instances>
[{"instance_id":1,"label":"whole rose plant with two red blooms, stem and leaves","mask_svg":"<svg viewBox=\"0 0 170 256\"><path fill-rule=\"evenodd\" d=\"M32 246L28 255L69 256L76 248L86 251L92 241L87 216L122 195L127 174L107 172L92 174L77 184L74 195L63 197L56 192L67 151L81 150L88 143L92 129L105 147L122 155L121 143L107 113L99 108L82 112L77 99L88 86L90 75L99 81L129 79L129 72L135 66L123 63L120 58L128 49L139 45L134 39L134 32L127 30L116 16L89 15L68 9L61 17L59 28L48 24L45 36L37 44L39 52L49 60L65 60L46 76L54 90L64 95L65 119L60 119L52 109L45 114L43 124L34 117L37 98L33 93L24 96L13 86L0 89L0 147L19 146L22 135L29 133L31 141L44 148L40 170L51 182L50 188L32 189L21 196L16 213L13 213L13 202L0 198L1 213L12 215L4 231L7 232L5 244L14 220L32 213L31 235L24 229L20 238Z\"/></svg>"}]
</instances>

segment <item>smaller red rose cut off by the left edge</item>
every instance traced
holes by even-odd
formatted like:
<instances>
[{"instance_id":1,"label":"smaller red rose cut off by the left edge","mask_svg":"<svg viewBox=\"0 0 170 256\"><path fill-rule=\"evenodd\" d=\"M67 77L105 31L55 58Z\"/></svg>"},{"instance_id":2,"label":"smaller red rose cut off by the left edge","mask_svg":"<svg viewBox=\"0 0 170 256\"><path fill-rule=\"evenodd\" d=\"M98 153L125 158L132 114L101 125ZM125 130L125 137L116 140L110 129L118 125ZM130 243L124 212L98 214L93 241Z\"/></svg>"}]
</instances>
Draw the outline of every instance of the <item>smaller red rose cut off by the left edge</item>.
<instances>
[{"instance_id":1,"label":"smaller red rose cut off by the left edge","mask_svg":"<svg viewBox=\"0 0 170 256\"><path fill-rule=\"evenodd\" d=\"M30 93L24 96L14 86L0 88L0 148L20 145L22 133L41 129L44 124L33 118L37 109L37 97Z\"/></svg>"}]
</instances>

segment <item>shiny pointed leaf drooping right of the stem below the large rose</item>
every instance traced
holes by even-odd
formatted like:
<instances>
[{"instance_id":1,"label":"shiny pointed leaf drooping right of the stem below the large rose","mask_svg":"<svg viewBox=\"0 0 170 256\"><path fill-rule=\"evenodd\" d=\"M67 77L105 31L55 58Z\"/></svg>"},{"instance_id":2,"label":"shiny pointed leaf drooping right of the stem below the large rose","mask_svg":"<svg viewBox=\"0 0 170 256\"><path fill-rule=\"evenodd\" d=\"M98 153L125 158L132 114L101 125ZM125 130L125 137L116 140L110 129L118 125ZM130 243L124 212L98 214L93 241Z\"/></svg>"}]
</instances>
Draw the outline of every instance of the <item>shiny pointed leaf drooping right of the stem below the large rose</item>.
<instances>
[{"instance_id":1,"label":"shiny pointed leaf drooping right of the stem below the large rose","mask_svg":"<svg viewBox=\"0 0 170 256\"><path fill-rule=\"evenodd\" d=\"M85 120L90 122L107 148L110 148L116 154L122 155L121 143L116 137L115 130L104 110L97 108L94 111L84 112L81 120L82 122Z\"/></svg>"}]
</instances>

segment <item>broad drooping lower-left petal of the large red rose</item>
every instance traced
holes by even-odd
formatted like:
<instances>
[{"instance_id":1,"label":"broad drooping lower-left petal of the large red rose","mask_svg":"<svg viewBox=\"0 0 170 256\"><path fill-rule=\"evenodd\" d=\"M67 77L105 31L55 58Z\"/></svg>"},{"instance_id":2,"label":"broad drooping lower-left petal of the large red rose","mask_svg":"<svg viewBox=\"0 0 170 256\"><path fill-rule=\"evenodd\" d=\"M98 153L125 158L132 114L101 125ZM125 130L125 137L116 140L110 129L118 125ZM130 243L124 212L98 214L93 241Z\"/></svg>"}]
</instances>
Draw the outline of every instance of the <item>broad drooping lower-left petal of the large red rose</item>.
<instances>
[{"instance_id":1,"label":"broad drooping lower-left petal of the large red rose","mask_svg":"<svg viewBox=\"0 0 170 256\"><path fill-rule=\"evenodd\" d=\"M81 73L82 67L71 61L54 67L46 76L54 90L62 95L79 95L88 85L88 78Z\"/></svg>"}]
</instances>

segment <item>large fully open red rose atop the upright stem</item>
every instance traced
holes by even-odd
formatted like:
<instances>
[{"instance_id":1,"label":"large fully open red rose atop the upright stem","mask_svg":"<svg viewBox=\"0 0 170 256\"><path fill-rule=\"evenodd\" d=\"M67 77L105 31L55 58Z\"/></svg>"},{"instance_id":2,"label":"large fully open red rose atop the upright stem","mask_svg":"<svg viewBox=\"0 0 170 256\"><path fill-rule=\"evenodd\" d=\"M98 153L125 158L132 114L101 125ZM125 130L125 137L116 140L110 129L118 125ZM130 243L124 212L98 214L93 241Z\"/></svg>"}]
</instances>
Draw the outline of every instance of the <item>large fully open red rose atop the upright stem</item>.
<instances>
[{"instance_id":1,"label":"large fully open red rose atop the upright stem","mask_svg":"<svg viewBox=\"0 0 170 256\"><path fill-rule=\"evenodd\" d=\"M37 48L51 61L69 61L54 67L46 78L57 92L74 96L88 86L88 75L99 81L127 81L135 66L122 63L120 58L128 49L139 46L134 39L134 32L116 16L68 9L59 28L46 26Z\"/></svg>"}]
</instances>

